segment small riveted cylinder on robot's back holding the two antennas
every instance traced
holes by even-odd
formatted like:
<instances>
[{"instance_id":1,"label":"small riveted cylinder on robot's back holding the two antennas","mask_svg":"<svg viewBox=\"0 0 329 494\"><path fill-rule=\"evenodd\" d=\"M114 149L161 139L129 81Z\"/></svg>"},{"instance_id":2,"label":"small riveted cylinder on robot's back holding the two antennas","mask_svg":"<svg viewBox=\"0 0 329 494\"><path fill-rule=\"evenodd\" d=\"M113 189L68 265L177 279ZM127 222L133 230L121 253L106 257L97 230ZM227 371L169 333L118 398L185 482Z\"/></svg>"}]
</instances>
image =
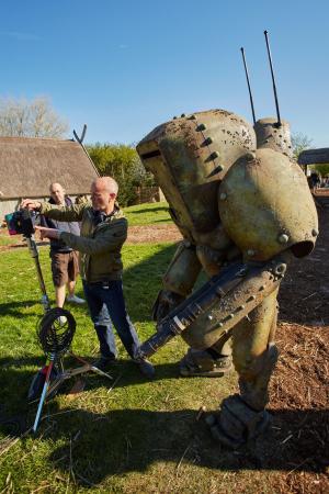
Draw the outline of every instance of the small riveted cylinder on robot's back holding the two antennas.
<instances>
[{"instance_id":1,"label":"small riveted cylinder on robot's back holding the two antennas","mask_svg":"<svg viewBox=\"0 0 329 494\"><path fill-rule=\"evenodd\" d=\"M257 148L270 148L292 158L293 148L291 141L291 128L286 121L277 125L276 119L261 119L254 124L257 136Z\"/></svg>"}]
</instances>

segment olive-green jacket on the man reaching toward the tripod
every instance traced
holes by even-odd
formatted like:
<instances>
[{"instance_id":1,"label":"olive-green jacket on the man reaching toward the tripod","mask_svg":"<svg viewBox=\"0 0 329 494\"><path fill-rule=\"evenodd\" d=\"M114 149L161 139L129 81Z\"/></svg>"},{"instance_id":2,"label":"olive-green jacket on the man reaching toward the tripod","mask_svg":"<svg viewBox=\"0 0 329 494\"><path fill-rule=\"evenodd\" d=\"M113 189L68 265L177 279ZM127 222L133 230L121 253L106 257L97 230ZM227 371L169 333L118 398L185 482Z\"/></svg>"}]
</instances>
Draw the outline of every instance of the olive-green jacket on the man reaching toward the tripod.
<instances>
[{"instance_id":1,"label":"olive-green jacket on the man reaching toward the tripod","mask_svg":"<svg viewBox=\"0 0 329 494\"><path fill-rule=\"evenodd\" d=\"M79 250L81 278L90 283L122 277L121 249L127 238L127 220L116 207L103 223L95 224L90 203L57 206L42 203L41 213L54 220L81 222L81 236L61 232L60 240Z\"/></svg>"}]
</instances>

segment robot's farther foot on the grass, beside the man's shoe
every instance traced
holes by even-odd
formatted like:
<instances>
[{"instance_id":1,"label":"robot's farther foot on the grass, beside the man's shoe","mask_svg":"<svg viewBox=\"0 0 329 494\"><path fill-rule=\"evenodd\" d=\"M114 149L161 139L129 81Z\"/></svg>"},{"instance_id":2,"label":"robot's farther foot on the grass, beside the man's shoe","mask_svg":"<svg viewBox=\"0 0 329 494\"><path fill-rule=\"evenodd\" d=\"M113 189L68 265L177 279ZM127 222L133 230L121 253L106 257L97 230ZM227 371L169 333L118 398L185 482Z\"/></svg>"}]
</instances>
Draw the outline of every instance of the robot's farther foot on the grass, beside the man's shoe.
<instances>
[{"instance_id":1,"label":"robot's farther foot on the grass, beside the man's shoe","mask_svg":"<svg viewBox=\"0 0 329 494\"><path fill-rule=\"evenodd\" d=\"M180 361L180 374L184 378L201 375L205 378L222 378L232 369L231 357L214 359L206 350L189 349Z\"/></svg>"}]
</instances>

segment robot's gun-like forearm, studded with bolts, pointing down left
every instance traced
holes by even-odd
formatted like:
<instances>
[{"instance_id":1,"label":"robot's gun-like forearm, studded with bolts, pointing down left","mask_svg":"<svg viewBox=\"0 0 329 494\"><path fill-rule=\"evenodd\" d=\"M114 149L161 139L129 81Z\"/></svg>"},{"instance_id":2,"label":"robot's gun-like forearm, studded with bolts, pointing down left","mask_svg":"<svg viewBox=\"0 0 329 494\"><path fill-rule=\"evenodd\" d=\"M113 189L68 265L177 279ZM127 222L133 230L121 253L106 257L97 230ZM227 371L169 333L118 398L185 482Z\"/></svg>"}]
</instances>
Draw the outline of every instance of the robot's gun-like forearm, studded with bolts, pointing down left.
<instances>
[{"instance_id":1,"label":"robot's gun-like forearm, studded with bolts, pointing down left","mask_svg":"<svg viewBox=\"0 0 329 494\"><path fill-rule=\"evenodd\" d=\"M285 251L268 262L235 263L223 270L158 324L158 333L140 347L143 357L177 335L193 348L209 348L277 289L290 257Z\"/></svg>"}]
</instances>

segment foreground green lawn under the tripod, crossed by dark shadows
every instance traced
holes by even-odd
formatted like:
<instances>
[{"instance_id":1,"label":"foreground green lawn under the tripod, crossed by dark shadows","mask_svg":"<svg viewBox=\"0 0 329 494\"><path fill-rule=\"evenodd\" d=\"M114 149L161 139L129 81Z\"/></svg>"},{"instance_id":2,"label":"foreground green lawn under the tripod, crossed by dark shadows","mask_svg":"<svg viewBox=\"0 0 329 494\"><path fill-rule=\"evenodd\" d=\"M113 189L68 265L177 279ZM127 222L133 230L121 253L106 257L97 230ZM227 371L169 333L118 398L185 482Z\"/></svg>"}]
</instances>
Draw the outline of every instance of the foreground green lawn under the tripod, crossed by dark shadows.
<instances>
[{"instance_id":1,"label":"foreground green lawn under the tripod, crossed by dark shadows","mask_svg":"<svg viewBox=\"0 0 329 494\"><path fill-rule=\"evenodd\" d=\"M173 251L169 244L123 250L128 312L141 340L155 330L150 310ZM54 299L45 247L41 262ZM26 392L44 362L35 336L43 314L35 268L27 249L15 249L0 254L0 416L27 416L32 424L35 407L29 408ZM80 282L77 293L82 295ZM73 350L90 359L98 341L87 310L70 310L77 321ZM248 454L222 450L196 422L200 406L216 409L236 391L234 373L179 378L177 362L186 346L175 338L152 358L157 375L147 382L117 344L113 381L90 373L82 393L58 394L44 407L37 436L15 441L0 426L0 492L273 492L271 472L257 470Z\"/></svg>"}]
</instances>

